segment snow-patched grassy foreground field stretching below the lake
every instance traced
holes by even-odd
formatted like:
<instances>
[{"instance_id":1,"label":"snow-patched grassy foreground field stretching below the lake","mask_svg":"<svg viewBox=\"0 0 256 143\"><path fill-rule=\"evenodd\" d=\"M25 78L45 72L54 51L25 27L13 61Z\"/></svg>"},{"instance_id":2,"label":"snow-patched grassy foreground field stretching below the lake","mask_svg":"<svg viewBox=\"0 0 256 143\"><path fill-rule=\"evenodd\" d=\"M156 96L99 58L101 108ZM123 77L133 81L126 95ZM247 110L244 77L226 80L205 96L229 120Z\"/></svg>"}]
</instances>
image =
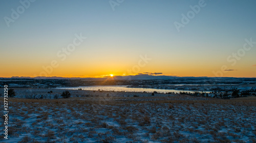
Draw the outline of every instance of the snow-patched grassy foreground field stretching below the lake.
<instances>
[{"instance_id":1,"label":"snow-patched grassy foreground field stretching below the lake","mask_svg":"<svg viewBox=\"0 0 256 143\"><path fill-rule=\"evenodd\" d=\"M256 142L255 97L71 93L78 97L9 98L9 139L0 142Z\"/></svg>"}]
</instances>

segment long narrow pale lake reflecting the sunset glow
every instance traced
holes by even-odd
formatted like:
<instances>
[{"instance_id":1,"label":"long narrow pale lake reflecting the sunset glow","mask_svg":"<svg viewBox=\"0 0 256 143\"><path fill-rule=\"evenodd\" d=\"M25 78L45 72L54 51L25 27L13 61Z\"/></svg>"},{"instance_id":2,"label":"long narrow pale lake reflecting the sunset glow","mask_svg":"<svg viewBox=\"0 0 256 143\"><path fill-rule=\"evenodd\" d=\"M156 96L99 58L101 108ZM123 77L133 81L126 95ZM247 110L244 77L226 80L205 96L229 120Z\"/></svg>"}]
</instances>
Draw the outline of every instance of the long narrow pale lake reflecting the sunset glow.
<instances>
[{"instance_id":1,"label":"long narrow pale lake reflecting the sunset glow","mask_svg":"<svg viewBox=\"0 0 256 143\"><path fill-rule=\"evenodd\" d=\"M158 92L158 93L168 93L168 92L190 92L194 93L195 91L187 91L187 90L169 90L169 89L148 89L148 88L126 88L127 85L95 85L95 86L81 86L81 87L61 87L56 89L65 89L65 90L89 90L89 91L116 91L116 92ZM199 91L198 91L199 92ZM201 92L201 91L200 91ZM209 92L206 92L209 93Z\"/></svg>"}]
</instances>

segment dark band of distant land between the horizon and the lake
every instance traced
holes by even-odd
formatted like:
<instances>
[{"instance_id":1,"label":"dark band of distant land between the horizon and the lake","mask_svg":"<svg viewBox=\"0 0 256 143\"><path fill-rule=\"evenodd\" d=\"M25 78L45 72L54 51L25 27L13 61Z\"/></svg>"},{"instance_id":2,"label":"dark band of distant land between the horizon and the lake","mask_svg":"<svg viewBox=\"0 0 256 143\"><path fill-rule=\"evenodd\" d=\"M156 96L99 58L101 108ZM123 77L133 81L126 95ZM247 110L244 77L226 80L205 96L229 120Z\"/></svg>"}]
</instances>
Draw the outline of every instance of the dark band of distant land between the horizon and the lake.
<instances>
[{"instance_id":1,"label":"dark band of distant land between the horizon and the lake","mask_svg":"<svg viewBox=\"0 0 256 143\"><path fill-rule=\"evenodd\" d=\"M234 80L236 79L236 80ZM229 80L229 81L227 81ZM120 80L115 78L90 79L49 79L49 78L0 78L0 85L15 84L19 88L55 88L78 87L88 85L131 85L131 87L162 84L255 84L256 78L210 78L210 77L175 77L174 79L136 79ZM14 88L13 86L13 88ZM144 87L146 88L146 87ZM218 88L216 89L218 90Z\"/></svg>"}]
</instances>

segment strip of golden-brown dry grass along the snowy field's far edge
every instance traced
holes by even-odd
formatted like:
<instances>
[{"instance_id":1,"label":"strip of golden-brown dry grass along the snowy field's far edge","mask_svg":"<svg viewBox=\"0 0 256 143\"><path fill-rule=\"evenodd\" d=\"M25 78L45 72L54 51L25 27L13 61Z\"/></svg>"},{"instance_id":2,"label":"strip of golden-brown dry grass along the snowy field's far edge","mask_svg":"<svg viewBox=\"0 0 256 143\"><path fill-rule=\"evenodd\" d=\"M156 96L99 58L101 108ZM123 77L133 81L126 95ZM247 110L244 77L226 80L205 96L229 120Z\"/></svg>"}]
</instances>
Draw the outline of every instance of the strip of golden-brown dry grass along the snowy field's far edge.
<instances>
[{"instance_id":1,"label":"strip of golden-brown dry grass along the snowy field's far edge","mask_svg":"<svg viewBox=\"0 0 256 143\"><path fill-rule=\"evenodd\" d=\"M105 100L109 98L108 100ZM236 98L231 100L225 99L216 99L216 98L197 98L197 97L188 97L192 100L182 100L187 98L186 95L180 95L180 97L137 97L136 99L141 98L140 100L135 101L134 97L94 97L87 98L87 97L74 97L68 99L23 99L23 98L9 98L9 102L14 103L24 103L25 105L30 106L31 103L39 103L45 105L54 105L54 106L61 106L63 104L76 104L76 105L83 105L83 104L96 104L102 105L102 101L104 99L104 105L116 105L116 104L139 104L139 103L187 103L187 104L225 104L225 105L254 105L256 106L256 97L244 97L244 98ZM125 99L125 100L122 100ZM206 100L207 99L207 100ZM3 101L3 97L0 97L0 101ZM169 108L172 108L170 104ZM190 107L188 107L189 109ZM27 109L24 109L27 110ZM41 110L38 108L38 110ZM143 111L141 111L143 112Z\"/></svg>"}]
</instances>

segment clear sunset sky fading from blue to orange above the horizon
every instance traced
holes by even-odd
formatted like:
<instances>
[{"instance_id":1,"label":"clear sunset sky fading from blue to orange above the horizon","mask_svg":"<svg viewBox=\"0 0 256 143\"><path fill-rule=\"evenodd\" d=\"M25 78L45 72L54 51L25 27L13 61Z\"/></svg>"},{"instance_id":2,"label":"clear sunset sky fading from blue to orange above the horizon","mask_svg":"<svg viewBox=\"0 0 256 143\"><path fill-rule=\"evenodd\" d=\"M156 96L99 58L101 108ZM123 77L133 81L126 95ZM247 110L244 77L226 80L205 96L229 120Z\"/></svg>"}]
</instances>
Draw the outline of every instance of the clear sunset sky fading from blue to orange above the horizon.
<instances>
[{"instance_id":1,"label":"clear sunset sky fading from blue to orange above the horizon","mask_svg":"<svg viewBox=\"0 0 256 143\"><path fill-rule=\"evenodd\" d=\"M256 1L0 1L0 77L256 77Z\"/></svg>"}]
</instances>

